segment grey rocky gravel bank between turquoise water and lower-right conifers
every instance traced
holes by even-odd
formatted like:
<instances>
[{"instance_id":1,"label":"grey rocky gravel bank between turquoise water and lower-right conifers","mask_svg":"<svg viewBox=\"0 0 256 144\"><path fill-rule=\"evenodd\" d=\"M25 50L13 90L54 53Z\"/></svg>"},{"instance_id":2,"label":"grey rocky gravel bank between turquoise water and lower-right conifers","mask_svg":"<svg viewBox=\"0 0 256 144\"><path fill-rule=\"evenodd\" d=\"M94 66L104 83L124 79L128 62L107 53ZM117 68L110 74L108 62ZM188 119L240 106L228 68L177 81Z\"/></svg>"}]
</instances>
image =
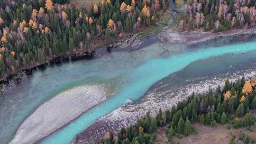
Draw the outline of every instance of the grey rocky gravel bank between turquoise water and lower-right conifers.
<instances>
[{"instance_id":1,"label":"grey rocky gravel bank between turquoise water and lower-right conifers","mask_svg":"<svg viewBox=\"0 0 256 144\"><path fill-rule=\"evenodd\" d=\"M76 135L71 144L92 144L103 138L106 132L117 132L123 126L129 126L136 123L137 119L150 111L152 116L158 112L159 108L166 110L171 108L178 101L186 99L192 92L201 93L216 89L218 85L224 86L224 80L229 78L231 81L237 80L245 74L246 78L253 77L255 67L247 71L238 71L226 73L210 78L198 77L197 81L185 80L183 84L169 84L165 78L156 84L153 89L146 92L145 96L138 101L127 103L122 107L112 111L110 114L99 118L93 125ZM164 89L164 90L163 90Z\"/></svg>"}]
</instances>

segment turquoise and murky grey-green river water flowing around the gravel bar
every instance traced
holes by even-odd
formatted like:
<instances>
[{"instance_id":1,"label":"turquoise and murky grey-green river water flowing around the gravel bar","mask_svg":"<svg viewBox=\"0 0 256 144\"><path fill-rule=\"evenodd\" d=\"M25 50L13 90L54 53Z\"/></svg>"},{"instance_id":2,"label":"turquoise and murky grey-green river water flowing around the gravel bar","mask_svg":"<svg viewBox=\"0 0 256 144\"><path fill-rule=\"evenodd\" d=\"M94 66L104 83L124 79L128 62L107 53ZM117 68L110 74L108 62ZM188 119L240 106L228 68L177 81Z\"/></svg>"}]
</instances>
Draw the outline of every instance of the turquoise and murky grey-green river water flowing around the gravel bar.
<instances>
[{"instance_id":1,"label":"turquoise and murky grey-green river water flowing around the gravel bar","mask_svg":"<svg viewBox=\"0 0 256 144\"><path fill-rule=\"evenodd\" d=\"M98 118L124 105L128 99L134 101L141 98L155 82L174 72L183 72L186 67L191 67L192 73L187 72L184 77L204 75L202 69L206 65L201 62L207 62L214 68L205 73L225 72L228 71L227 64L254 62L255 54L255 36L245 40L223 38L194 46L155 41L137 49L116 50L90 60L46 66L46 70L35 71L22 81L10 81L4 85L0 97L1 144L8 144L27 117L64 90L88 84L108 84L106 92L113 95L39 143L68 144ZM250 65L243 69L247 67ZM240 68L237 66L235 69Z\"/></svg>"}]
</instances>

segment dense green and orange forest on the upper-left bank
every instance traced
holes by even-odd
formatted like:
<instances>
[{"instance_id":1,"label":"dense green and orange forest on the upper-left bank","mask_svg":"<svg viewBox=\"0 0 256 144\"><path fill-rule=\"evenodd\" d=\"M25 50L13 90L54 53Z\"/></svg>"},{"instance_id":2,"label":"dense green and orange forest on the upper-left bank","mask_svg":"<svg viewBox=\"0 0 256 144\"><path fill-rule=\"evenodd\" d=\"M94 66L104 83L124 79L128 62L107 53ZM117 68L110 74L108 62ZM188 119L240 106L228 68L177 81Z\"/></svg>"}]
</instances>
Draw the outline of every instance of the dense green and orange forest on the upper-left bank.
<instances>
[{"instance_id":1,"label":"dense green and orange forest on the upper-left bank","mask_svg":"<svg viewBox=\"0 0 256 144\"><path fill-rule=\"evenodd\" d=\"M102 0L91 9L66 2L0 0L0 78L73 53L76 47L91 52L95 37L110 40L149 26L161 10L158 0ZM161 2L166 8L168 0Z\"/></svg>"}]
</instances>

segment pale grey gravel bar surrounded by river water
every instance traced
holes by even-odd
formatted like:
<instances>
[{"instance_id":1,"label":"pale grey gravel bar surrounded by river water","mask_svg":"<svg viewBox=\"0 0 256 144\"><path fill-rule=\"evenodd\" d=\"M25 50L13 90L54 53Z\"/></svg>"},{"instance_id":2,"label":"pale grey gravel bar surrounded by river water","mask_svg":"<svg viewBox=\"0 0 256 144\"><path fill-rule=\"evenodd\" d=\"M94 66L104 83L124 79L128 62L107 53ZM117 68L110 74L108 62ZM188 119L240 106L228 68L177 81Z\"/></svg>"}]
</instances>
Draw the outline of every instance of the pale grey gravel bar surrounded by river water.
<instances>
[{"instance_id":1,"label":"pale grey gravel bar surrounded by river water","mask_svg":"<svg viewBox=\"0 0 256 144\"><path fill-rule=\"evenodd\" d=\"M18 128L9 144L33 144L104 99L106 93L102 85L65 90L37 108Z\"/></svg>"}]
</instances>

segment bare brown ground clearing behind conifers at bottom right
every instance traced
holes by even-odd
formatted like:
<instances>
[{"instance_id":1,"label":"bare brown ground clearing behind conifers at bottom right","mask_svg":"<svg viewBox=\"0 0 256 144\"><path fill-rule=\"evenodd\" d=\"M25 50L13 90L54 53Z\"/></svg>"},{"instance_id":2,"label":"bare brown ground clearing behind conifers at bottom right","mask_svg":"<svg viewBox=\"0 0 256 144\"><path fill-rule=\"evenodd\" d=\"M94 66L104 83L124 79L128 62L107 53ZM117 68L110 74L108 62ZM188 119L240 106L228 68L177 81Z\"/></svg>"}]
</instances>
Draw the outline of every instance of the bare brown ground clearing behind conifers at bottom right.
<instances>
[{"instance_id":1,"label":"bare brown ground clearing behind conifers at bottom right","mask_svg":"<svg viewBox=\"0 0 256 144\"><path fill-rule=\"evenodd\" d=\"M182 138L174 136L173 140L175 144L229 144L232 139L232 135L236 135L236 143L243 144L243 142L239 140L241 131L245 135L250 135L252 139L256 140L256 126L252 126L252 131L248 131L246 127L235 129L232 127L232 125L230 125L231 128L228 128L228 125L229 124L218 124L215 127L211 127L194 123L192 126L197 130L197 134L192 134L189 136L182 135ZM165 134L165 129L166 126L158 128L156 131L157 138L155 144L169 144Z\"/></svg>"}]
</instances>

